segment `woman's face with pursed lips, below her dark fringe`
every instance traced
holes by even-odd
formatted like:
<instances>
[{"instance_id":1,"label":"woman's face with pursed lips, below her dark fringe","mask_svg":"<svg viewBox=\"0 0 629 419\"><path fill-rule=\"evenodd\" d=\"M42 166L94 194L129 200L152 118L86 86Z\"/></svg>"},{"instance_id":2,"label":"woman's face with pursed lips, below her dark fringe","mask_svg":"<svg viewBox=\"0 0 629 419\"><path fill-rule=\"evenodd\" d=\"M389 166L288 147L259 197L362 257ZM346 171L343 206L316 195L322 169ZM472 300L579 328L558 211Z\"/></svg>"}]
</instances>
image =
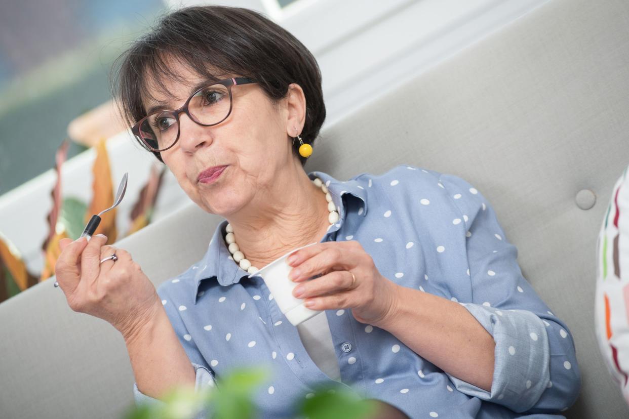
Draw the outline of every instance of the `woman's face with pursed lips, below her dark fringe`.
<instances>
[{"instance_id":1,"label":"woman's face with pursed lips, below her dark fringe","mask_svg":"<svg viewBox=\"0 0 629 419\"><path fill-rule=\"evenodd\" d=\"M170 109L182 106L192 93L191 86L203 81L182 65L175 67L175 72L187 80L186 84L165 83L175 99L152 91L153 97ZM238 75L226 75L225 79L230 77ZM231 87L230 116L215 126L201 126L185 113L179 114L179 140L162 151L162 159L199 207L223 216L237 212L256 195L259 200L264 197L289 165L299 165L288 134L301 132L305 99L303 90L292 86L296 89L290 89L289 97L278 104L273 104L258 84ZM155 104L148 99L144 102L145 109ZM202 171L224 165L227 167L212 183L198 181Z\"/></svg>"}]
</instances>

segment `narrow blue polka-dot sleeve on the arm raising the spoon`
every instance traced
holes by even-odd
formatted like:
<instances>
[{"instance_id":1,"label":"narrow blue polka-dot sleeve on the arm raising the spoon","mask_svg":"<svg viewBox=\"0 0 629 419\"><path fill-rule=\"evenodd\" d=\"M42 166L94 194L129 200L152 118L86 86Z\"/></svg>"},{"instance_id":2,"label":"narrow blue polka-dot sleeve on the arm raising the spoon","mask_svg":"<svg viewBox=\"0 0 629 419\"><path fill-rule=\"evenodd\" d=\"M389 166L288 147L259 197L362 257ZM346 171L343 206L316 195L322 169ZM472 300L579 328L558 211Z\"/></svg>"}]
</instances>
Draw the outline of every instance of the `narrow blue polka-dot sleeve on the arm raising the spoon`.
<instances>
[{"instance_id":1,"label":"narrow blue polka-dot sleeve on the arm raising the spoon","mask_svg":"<svg viewBox=\"0 0 629 419\"><path fill-rule=\"evenodd\" d=\"M160 299L162 300L162 303L164 304L164 309L169 317L170 324L175 330L175 334L179 338L179 342L181 342L181 345L184 347L184 350L186 351L186 354L188 358L190 359L192 366L194 367L194 371L196 374L194 391L198 392L198 391L201 391L201 389L206 389L206 388L216 386L216 379L214 376L214 372L211 369L211 367L208 366L207 362L201 355L201 352L199 351L198 347L194 343L194 340L184 338L184 336L190 337L191 335L189 334L186 328L186 325L184 324L184 322L181 319L181 316L179 315L179 310L177 310L176 304L172 300L170 300L170 297L167 291L162 286L158 288L157 293L159 294ZM165 405L164 401L153 398L151 396L147 396L144 393L142 393L142 391L138 389L137 383L133 383L133 395L135 398L136 405L140 405L140 404L148 404L152 406ZM196 413L194 418L195 419L206 418L208 417L207 415L208 415L208 410L200 410L198 413Z\"/></svg>"}]
</instances>

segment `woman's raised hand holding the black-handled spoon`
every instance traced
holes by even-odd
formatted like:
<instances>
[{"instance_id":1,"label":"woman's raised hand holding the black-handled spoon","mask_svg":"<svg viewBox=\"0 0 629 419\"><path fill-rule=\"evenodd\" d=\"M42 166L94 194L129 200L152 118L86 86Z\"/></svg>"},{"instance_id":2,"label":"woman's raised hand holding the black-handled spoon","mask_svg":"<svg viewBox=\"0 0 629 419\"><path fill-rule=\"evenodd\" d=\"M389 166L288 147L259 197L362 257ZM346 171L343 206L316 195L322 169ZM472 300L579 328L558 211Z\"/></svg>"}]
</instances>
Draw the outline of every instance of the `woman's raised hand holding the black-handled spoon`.
<instances>
[{"instance_id":1,"label":"woman's raised hand holding the black-handled spoon","mask_svg":"<svg viewBox=\"0 0 629 419\"><path fill-rule=\"evenodd\" d=\"M59 242L62 252L55 264L59 287L72 310L102 318L126 339L148 327L162 303L155 286L124 249L105 246L107 237L92 236ZM111 259L101 259L113 253Z\"/></svg>"}]
</instances>

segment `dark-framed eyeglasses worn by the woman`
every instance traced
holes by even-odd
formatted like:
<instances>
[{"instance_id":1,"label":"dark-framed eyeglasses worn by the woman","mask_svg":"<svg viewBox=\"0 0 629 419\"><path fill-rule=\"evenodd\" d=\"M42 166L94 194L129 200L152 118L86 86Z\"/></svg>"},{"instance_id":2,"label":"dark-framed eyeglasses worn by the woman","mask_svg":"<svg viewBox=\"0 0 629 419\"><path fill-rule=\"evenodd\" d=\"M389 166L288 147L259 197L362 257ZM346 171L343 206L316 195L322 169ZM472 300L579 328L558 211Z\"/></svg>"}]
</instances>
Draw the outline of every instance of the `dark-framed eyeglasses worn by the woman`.
<instances>
[{"instance_id":1,"label":"dark-framed eyeglasses worn by the woman","mask_svg":"<svg viewBox=\"0 0 629 419\"><path fill-rule=\"evenodd\" d=\"M179 139L179 114L186 115L201 126L213 126L225 121L231 113L233 98L231 87L240 84L257 83L257 80L236 77L216 82L194 92L184 106L174 111L155 111L140 119L131 132L150 151L165 151Z\"/></svg>"}]
</instances>

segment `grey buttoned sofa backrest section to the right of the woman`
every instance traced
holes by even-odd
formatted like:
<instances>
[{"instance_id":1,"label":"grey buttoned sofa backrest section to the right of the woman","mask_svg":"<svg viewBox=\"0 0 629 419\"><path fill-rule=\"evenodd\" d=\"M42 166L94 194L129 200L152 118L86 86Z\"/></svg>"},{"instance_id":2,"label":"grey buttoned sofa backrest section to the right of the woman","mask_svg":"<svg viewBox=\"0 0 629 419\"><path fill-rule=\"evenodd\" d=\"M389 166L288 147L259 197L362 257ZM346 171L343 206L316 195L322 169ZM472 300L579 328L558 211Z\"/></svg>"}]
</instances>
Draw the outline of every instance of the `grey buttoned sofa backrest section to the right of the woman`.
<instances>
[{"instance_id":1,"label":"grey buttoned sofa backrest section to the right of the woman","mask_svg":"<svg viewBox=\"0 0 629 419\"><path fill-rule=\"evenodd\" d=\"M346 179L406 163L483 193L576 342L570 418L629 417L593 314L596 239L629 165L628 22L626 1L550 1L327 130L306 166Z\"/></svg>"}]
</instances>

